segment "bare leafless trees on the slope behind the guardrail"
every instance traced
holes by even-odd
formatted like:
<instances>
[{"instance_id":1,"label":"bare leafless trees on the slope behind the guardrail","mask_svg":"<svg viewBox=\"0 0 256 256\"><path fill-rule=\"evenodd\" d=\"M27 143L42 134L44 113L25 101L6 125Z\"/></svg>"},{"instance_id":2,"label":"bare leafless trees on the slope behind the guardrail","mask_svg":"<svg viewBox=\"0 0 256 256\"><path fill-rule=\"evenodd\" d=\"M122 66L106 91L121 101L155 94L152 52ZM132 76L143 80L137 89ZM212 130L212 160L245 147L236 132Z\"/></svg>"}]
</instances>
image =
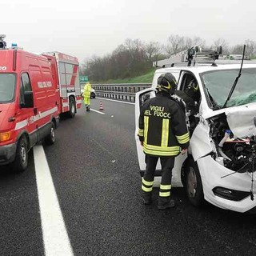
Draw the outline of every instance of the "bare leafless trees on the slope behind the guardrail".
<instances>
[{"instance_id":1,"label":"bare leafless trees on the slope behind the guardrail","mask_svg":"<svg viewBox=\"0 0 256 256\"><path fill-rule=\"evenodd\" d=\"M246 55L256 58L256 42L247 39ZM94 55L82 64L81 74L88 75L91 81L106 81L109 79L136 77L152 69L152 63L169 58L191 46L201 46L202 49L217 49L222 46L223 54L242 54L243 45L229 46L225 39L218 38L212 46L206 46L202 38L188 38L171 34L165 45L159 42L142 42L140 39L126 39L111 54L103 57Z\"/></svg>"}]
</instances>

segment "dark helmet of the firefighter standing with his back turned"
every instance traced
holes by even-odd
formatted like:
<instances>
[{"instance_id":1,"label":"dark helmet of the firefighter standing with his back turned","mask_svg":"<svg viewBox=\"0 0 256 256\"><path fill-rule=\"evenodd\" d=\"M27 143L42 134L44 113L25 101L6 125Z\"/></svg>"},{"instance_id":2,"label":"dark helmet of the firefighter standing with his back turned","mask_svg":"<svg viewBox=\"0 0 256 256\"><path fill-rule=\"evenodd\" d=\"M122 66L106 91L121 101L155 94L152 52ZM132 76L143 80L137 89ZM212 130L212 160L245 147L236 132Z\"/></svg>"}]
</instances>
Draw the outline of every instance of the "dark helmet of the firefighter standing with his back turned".
<instances>
[{"instance_id":1,"label":"dark helmet of the firefighter standing with his back turned","mask_svg":"<svg viewBox=\"0 0 256 256\"><path fill-rule=\"evenodd\" d=\"M168 94L172 95L174 94L176 88L177 88L177 82L173 74L166 73L166 74L160 75L160 77L158 78L158 86L157 86L158 91L164 90Z\"/></svg>"}]
</instances>

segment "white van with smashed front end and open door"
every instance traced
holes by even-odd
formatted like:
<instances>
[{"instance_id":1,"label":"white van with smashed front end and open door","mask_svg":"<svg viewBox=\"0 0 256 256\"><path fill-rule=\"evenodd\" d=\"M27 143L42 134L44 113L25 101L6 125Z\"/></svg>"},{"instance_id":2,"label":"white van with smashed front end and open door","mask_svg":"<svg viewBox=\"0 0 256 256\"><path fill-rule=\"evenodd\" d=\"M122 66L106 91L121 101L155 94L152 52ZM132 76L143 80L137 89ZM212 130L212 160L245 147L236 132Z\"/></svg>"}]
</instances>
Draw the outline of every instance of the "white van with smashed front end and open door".
<instances>
[{"instance_id":1,"label":"white van with smashed front end and open door","mask_svg":"<svg viewBox=\"0 0 256 256\"><path fill-rule=\"evenodd\" d=\"M229 62L227 62L229 63ZM242 67L242 69L241 69ZM138 117L143 100L154 97L158 77L174 74L178 90L196 80L200 99L188 126L187 155L175 160L172 186L184 186L194 206L204 200L226 210L256 210L256 63L171 65L155 71L152 88L139 91L135 101L135 139L143 175L145 155L138 140ZM236 82L235 82L236 81ZM155 186L160 180L158 162Z\"/></svg>"}]
</instances>

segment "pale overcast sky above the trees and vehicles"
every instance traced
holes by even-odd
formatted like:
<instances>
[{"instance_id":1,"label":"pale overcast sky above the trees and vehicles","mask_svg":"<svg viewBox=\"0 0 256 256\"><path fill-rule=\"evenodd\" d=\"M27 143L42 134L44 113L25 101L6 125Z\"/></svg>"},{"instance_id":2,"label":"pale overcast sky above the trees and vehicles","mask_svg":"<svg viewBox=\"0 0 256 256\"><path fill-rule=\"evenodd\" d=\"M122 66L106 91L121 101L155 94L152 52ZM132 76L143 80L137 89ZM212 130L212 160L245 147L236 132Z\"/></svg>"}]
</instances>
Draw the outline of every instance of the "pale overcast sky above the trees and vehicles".
<instances>
[{"instance_id":1,"label":"pale overcast sky above the trees and vehicles","mask_svg":"<svg viewBox=\"0 0 256 256\"><path fill-rule=\"evenodd\" d=\"M231 46L256 41L254 0L1 0L0 34L32 52L110 54L126 38L166 43L170 34Z\"/></svg>"}]
</instances>

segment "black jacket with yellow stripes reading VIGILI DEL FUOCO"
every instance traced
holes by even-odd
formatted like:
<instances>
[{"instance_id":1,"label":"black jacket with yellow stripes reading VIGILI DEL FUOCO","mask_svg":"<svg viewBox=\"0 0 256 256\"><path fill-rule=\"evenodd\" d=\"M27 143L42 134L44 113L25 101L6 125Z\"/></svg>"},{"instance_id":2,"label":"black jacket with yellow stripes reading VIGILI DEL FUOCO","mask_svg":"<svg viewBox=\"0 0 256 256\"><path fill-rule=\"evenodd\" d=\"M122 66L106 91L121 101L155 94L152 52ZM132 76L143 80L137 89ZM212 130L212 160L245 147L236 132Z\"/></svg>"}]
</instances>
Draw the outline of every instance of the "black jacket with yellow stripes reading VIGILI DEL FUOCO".
<instances>
[{"instance_id":1,"label":"black jacket with yellow stripes reading VIGILI DEL FUOCO","mask_svg":"<svg viewBox=\"0 0 256 256\"><path fill-rule=\"evenodd\" d=\"M186 117L170 94L158 93L146 100L139 117L138 137L145 154L170 157L189 146Z\"/></svg>"}]
</instances>

